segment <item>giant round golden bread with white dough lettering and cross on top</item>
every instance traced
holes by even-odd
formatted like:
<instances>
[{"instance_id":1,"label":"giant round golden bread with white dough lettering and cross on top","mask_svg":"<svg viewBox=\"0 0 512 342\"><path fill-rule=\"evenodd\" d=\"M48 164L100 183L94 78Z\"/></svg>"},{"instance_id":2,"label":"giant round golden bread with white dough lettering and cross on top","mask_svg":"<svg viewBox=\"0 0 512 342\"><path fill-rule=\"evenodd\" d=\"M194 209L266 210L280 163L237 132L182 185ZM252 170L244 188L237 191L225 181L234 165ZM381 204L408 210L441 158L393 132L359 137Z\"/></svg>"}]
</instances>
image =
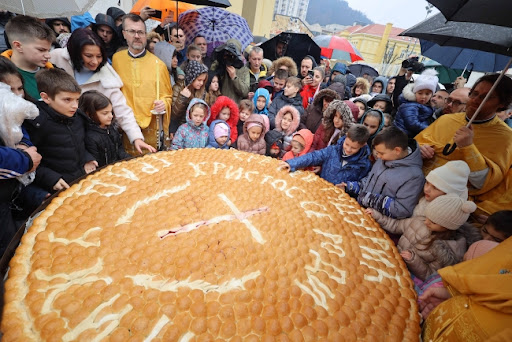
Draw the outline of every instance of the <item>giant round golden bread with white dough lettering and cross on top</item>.
<instances>
[{"instance_id":1,"label":"giant round golden bread with white dough lettering and cross on top","mask_svg":"<svg viewBox=\"0 0 512 342\"><path fill-rule=\"evenodd\" d=\"M4 341L418 341L412 281L354 199L235 150L120 162L34 220Z\"/></svg>"}]
</instances>

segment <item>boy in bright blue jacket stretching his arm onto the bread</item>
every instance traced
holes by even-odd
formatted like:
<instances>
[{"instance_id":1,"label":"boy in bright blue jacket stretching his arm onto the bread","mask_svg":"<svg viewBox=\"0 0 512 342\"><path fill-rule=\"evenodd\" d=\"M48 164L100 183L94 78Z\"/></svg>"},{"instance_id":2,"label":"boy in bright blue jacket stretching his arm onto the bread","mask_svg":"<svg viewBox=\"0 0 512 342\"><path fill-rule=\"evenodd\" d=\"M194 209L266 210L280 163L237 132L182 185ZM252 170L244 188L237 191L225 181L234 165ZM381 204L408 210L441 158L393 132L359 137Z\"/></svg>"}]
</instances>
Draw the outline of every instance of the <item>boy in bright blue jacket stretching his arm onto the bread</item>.
<instances>
[{"instance_id":1,"label":"boy in bright blue jacket stretching his arm onto the bread","mask_svg":"<svg viewBox=\"0 0 512 342\"><path fill-rule=\"evenodd\" d=\"M281 163L290 171L308 166L322 166L320 177L333 184L357 182L365 177L371 168L370 149L366 142L370 132L363 125L352 125L347 134L336 145Z\"/></svg>"}]
</instances>

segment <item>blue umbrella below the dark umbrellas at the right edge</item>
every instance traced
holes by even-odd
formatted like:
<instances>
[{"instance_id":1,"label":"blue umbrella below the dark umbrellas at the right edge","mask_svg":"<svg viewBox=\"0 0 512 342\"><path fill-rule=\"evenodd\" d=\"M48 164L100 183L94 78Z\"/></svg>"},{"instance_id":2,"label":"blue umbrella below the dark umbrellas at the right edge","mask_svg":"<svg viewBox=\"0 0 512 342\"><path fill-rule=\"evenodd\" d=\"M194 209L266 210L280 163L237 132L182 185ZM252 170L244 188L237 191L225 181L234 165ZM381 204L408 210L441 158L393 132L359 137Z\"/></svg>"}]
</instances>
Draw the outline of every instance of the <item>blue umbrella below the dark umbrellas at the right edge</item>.
<instances>
[{"instance_id":1,"label":"blue umbrella below the dark umbrellas at the right edge","mask_svg":"<svg viewBox=\"0 0 512 342\"><path fill-rule=\"evenodd\" d=\"M421 54L451 69L466 69L473 65L474 71L496 72L507 65L510 57L496 53L464 49L454 46L440 46L420 39Z\"/></svg>"}]
</instances>

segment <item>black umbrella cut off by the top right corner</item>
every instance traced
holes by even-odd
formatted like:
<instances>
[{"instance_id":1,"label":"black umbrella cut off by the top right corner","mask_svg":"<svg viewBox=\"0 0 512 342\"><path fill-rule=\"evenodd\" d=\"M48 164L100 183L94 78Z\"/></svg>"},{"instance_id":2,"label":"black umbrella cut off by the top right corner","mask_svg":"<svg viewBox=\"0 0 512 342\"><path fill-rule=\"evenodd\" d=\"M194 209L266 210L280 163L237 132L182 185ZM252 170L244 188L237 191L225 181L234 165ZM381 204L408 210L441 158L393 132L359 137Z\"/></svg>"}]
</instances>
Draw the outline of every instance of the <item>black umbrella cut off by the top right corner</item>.
<instances>
[{"instance_id":1,"label":"black umbrella cut off by the top right corner","mask_svg":"<svg viewBox=\"0 0 512 342\"><path fill-rule=\"evenodd\" d=\"M509 0L427 0L436 6L446 19L512 27Z\"/></svg>"}]
</instances>

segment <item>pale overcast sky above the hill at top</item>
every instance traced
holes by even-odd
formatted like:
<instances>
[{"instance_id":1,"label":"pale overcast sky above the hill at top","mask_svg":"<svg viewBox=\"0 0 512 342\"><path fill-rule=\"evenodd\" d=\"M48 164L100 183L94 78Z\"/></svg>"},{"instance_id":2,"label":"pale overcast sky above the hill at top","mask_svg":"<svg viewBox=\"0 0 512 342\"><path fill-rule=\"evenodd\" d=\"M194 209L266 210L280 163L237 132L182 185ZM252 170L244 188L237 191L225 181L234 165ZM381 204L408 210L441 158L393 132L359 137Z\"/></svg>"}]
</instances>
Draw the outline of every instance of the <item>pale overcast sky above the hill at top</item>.
<instances>
[{"instance_id":1,"label":"pale overcast sky above the hill at top","mask_svg":"<svg viewBox=\"0 0 512 342\"><path fill-rule=\"evenodd\" d=\"M393 23L407 29L425 19L425 0L346 0L350 7L366 14L376 24ZM435 10L435 7L434 7ZM431 16L432 12L429 16Z\"/></svg>"}]
</instances>

